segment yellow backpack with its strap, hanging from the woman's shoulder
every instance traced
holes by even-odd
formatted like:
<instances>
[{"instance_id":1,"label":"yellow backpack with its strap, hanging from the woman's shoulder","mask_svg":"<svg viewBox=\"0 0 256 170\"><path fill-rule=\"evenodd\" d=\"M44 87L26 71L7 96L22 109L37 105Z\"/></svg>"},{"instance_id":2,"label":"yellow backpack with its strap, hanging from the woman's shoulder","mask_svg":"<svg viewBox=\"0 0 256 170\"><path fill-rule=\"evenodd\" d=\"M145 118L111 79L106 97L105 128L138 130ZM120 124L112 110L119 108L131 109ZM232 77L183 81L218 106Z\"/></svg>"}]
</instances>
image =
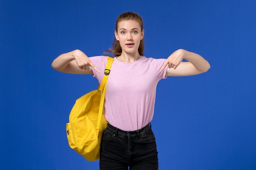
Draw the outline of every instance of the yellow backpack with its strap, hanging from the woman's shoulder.
<instances>
[{"instance_id":1,"label":"yellow backpack with its strap, hanging from the woman's shoulder","mask_svg":"<svg viewBox=\"0 0 256 170\"><path fill-rule=\"evenodd\" d=\"M102 132L108 124L102 113L106 84L113 60L112 57L107 57L106 69L98 90L91 91L76 100L70 112L69 123L66 124L70 148L88 161L99 159Z\"/></svg>"}]
</instances>

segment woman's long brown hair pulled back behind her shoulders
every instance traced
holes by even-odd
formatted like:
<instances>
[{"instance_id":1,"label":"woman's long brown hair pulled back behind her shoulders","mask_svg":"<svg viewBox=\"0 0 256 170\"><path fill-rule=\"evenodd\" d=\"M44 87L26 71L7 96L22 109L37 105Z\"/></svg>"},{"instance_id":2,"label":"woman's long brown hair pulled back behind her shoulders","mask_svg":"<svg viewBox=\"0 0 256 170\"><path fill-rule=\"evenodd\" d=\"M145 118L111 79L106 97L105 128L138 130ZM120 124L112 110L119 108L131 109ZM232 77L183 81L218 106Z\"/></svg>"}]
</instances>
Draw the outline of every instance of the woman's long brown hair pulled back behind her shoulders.
<instances>
[{"instance_id":1,"label":"woman's long brown hair pulled back behind her shoulders","mask_svg":"<svg viewBox=\"0 0 256 170\"><path fill-rule=\"evenodd\" d=\"M139 16L139 14L137 14L135 12L125 12L125 13L120 14L117 17L116 31L117 31L118 22L124 21L124 20L135 20L135 21L139 22L139 25L141 27L141 31L143 30L143 20ZM138 52L139 52L139 55L143 55L144 54L144 42L143 42L143 39L140 40ZM115 39L113 44L112 44L112 46L104 52L104 54L108 54L108 53L112 53L113 57L121 55L122 48L121 48L121 46L119 44L119 41L117 41L117 39Z\"/></svg>"}]
</instances>

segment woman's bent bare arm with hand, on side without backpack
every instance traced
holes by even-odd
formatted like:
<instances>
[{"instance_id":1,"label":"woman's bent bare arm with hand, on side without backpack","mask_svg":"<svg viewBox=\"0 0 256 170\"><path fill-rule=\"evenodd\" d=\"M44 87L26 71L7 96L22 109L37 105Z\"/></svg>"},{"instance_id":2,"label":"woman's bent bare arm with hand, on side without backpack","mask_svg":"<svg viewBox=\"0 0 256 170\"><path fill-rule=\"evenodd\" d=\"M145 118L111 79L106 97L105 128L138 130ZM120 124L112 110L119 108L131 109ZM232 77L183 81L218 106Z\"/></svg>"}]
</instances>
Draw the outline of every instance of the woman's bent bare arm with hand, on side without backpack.
<instances>
[{"instance_id":1,"label":"woman's bent bare arm with hand, on side without backpack","mask_svg":"<svg viewBox=\"0 0 256 170\"><path fill-rule=\"evenodd\" d=\"M188 62L182 62L185 59ZM168 65L166 76L188 76L207 72L209 62L196 53L179 49L172 53L161 68L161 72Z\"/></svg>"}]
</instances>

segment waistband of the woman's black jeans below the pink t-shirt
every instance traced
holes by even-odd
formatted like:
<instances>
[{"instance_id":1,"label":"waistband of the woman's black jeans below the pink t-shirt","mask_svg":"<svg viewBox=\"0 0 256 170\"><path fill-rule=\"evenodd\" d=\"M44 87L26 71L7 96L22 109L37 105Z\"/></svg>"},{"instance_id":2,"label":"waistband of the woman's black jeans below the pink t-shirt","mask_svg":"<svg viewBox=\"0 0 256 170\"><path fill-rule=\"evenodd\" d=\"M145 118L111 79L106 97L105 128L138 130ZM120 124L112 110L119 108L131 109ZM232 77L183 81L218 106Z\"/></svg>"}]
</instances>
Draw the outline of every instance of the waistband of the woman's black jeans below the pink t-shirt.
<instances>
[{"instance_id":1,"label":"waistband of the woman's black jeans below the pink t-shirt","mask_svg":"<svg viewBox=\"0 0 256 170\"><path fill-rule=\"evenodd\" d=\"M146 126L144 126L143 128L139 129L139 130L135 130L135 131L125 131L125 130L121 130L119 128L116 128L115 126L112 126L111 124L108 124L107 127L108 130L112 131L115 133L115 135L127 135L128 137L134 137L134 136L140 136L143 135L144 133L148 132L151 130L151 124L147 124Z\"/></svg>"}]
</instances>

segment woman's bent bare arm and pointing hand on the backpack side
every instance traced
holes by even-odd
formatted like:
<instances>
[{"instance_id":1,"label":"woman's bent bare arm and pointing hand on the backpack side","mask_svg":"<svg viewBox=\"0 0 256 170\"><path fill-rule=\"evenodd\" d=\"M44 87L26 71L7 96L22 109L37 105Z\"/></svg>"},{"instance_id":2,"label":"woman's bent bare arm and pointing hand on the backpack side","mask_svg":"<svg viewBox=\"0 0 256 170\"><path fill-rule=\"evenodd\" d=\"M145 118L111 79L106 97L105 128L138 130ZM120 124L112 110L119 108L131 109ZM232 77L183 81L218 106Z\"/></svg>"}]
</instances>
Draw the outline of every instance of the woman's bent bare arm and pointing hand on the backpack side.
<instances>
[{"instance_id":1,"label":"woman's bent bare arm and pointing hand on the backpack side","mask_svg":"<svg viewBox=\"0 0 256 170\"><path fill-rule=\"evenodd\" d=\"M52 62L52 68L56 71L71 74L93 74L92 68L99 72L99 69L90 61L87 55L80 50L58 56Z\"/></svg>"}]
</instances>

